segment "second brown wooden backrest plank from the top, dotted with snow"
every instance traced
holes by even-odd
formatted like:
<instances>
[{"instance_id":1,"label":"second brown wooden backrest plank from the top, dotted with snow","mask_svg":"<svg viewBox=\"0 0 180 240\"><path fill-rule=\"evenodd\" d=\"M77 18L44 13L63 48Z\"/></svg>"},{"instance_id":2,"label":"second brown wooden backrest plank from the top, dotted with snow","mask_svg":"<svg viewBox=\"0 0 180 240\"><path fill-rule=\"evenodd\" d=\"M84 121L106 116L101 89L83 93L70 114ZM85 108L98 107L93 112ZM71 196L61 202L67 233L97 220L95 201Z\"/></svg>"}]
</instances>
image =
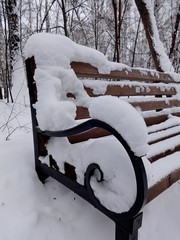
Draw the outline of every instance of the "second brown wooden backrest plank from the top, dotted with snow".
<instances>
[{"instance_id":1,"label":"second brown wooden backrest plank from the top, dotted with snow","mask_svg":"<svg viewBox=\"0 0 180 240\"><path fill-rule=\"evenodd\" d=\"M85 87L86 92L90 97L97 97L102 95L112 95L112 96L162 96L162 95L176 95L176 89L171 87L166 90L162 90L158 86L118 86L118 85L108 85L107 90L104 94L95 94L93 89Z\"/></svg>"}]
</instances>

